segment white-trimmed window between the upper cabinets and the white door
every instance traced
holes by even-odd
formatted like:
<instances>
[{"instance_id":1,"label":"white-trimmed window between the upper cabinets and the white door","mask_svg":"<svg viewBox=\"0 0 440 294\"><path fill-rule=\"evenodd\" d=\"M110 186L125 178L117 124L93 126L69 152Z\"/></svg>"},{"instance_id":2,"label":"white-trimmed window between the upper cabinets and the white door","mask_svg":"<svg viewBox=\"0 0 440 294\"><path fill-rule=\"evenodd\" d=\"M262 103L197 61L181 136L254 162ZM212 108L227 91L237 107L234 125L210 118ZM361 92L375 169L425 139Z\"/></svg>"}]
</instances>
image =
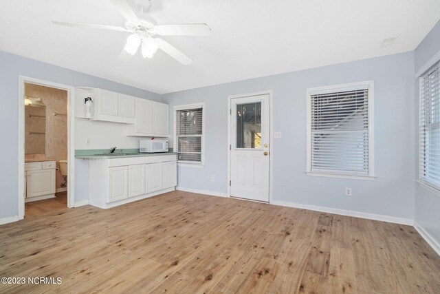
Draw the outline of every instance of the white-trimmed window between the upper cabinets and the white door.
<instances>
[{"instance_id":1,"label":"white-trimmed window between the upper cabinets and the white door","mask_svg":"<svg viewBox=\"0 0 440 294\"><path fill-rule=\"evenodd\" d=\"M204 104L174 107L174 151L177 162L203 165Z\"/></svg>"}]
</instances>

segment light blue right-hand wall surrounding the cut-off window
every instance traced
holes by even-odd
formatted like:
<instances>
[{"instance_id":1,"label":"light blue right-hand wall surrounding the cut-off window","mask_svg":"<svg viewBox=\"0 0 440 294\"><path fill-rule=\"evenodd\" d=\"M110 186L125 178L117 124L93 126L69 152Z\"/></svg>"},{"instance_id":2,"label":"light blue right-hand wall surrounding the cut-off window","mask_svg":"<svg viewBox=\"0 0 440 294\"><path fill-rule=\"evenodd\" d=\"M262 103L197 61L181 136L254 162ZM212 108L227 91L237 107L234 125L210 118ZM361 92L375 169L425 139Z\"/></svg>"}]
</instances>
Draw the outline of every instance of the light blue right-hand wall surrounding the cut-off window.
<instances>
[{"instance_id":1,"label":"light blue right-hand wall surrounding the cut-off window","mask_svg":"<svg viewBox=\"0 0 440 294\"><path fill-rule=\"evenodd\" d=\"M440 22L434 26L415 50L415 72L418 72L432 56L440 51ZM419 83L415 83L415 138L419 138ZM418 141L415 145L415 158L418 162ZM418 163L417 163L418 164ZM415 166L418 178L418 165ZM440 196L434 194L419 184L415 185L415 220L425 229L437 244L440 244Z\"/></svg>"}]
</instances>

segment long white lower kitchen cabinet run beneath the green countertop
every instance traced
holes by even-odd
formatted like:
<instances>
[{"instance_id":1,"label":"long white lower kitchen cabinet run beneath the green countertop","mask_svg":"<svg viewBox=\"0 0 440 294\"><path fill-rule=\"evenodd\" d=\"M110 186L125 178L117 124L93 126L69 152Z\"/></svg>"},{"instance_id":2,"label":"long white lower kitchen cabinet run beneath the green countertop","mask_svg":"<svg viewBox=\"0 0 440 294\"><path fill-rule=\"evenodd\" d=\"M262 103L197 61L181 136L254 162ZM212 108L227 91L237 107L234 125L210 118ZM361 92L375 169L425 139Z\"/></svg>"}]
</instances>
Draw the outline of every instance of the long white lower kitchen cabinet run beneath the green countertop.
<instances>
[{"instance_id":1,"label":"long white lower kitchen cabinet run beneath the green countertop","mask_svg":"<svg viewBox=\"0 0 440 294\"><path fill-rule=\"evenodd\" d=\"M91 160L89 204L106 209L174 190L176 160L174 154Z\"/></svg>"}]
</instances>

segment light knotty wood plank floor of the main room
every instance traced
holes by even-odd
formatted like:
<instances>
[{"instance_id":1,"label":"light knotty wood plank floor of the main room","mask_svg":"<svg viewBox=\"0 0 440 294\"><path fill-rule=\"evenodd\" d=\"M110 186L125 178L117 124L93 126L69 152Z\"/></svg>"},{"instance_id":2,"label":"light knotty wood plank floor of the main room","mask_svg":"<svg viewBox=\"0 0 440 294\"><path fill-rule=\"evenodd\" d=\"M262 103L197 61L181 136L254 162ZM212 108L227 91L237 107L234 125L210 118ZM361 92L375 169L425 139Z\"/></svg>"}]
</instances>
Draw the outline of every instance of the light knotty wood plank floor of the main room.
<instances>
[{"instance_id":1,"label":"light knotty wood plank floor of the main room","mask_svg":"<svg viewBox=\"0 0 440 294\"><path fill-rule=\"evenodd\" d=\"M27 211L28 213L28 211ZM409 226L173 191L0 226L2 293L440 293Z\"/></svg>"}]
</instances>

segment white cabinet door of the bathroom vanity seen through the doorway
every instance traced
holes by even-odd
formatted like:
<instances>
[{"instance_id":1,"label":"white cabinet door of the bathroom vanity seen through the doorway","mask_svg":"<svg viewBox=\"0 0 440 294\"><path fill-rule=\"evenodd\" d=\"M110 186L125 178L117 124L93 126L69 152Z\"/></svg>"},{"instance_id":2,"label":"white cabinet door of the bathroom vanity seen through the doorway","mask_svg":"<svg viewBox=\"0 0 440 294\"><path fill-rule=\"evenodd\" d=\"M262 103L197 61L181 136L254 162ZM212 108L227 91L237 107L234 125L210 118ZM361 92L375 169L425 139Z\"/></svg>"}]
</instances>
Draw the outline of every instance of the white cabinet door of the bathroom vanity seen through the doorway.
<instances>
[{"instance_id":1,"label":"white cabinet door of the bathroom vanity seen through the doorway","mask_svg":"<svg viewBox=\"0 0 440 294\"><path fill-rule=\"evenodd\" d=\"M55 169L27 171L26 197L36 197L55 193Z\"/></svg>"}]
</instances>

